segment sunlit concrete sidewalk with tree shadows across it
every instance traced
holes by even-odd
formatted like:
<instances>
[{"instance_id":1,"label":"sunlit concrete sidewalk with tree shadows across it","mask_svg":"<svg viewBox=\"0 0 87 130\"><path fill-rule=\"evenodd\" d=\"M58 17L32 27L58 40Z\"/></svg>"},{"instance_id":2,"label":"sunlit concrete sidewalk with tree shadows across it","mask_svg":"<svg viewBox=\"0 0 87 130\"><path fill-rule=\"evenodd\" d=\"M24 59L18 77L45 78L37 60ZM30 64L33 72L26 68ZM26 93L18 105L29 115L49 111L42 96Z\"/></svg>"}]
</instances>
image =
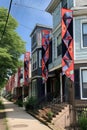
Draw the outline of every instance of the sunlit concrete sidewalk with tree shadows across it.
<instances>
[{"instance_id":1,"label":"sunlit concrete sidewalk with tree shadows across it","mask_svg":"<svg viewBox=\"0 0 87 130\"><path fill-rule=\"evenodd\" d=\"M51 130L22 108L3 99L9 130Z\"/></svg>"}]
</instances>

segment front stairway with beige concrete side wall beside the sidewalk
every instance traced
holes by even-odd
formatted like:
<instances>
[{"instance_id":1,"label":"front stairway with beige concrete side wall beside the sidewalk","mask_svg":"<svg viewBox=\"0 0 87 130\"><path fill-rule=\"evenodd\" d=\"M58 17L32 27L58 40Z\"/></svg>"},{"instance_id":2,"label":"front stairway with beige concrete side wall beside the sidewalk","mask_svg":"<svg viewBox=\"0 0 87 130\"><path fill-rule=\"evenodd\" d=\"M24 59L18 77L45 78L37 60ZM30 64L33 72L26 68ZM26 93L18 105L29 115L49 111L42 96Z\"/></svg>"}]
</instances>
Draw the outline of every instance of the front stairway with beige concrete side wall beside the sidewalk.
<instances>
[{"instance_id":1,"label":"front stairway with beige concrete side wall beside the sidewalk","mask_svg":"<svg viewBox=\"0 0 87 130\"><path fill-rule=\"evenodd\" d=\"M50 103L36 111L36 117L50 126L53 130L65 130L64 128L70 123L69 105L66 103Z\"/></svg>"}]
</instances>

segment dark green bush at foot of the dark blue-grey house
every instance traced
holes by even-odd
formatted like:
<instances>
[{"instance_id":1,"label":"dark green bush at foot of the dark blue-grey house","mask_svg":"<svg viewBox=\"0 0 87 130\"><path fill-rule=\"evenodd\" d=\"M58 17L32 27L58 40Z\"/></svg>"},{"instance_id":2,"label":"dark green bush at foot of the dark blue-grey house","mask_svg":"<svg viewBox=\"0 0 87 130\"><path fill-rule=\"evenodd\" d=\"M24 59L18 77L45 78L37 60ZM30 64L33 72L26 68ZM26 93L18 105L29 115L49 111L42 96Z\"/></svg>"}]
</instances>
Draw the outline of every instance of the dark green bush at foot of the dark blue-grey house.
<instances>
[{"instance_id":1,"label":"dark green bush at foot of the dark blue-grey house","mask_svg":"<svg viewBox=\"0 0 87 130\"><path fill-rule=\"evenodd\" d=\"M35 97L27 98L27 101L24 102L25 109L35 109L37 108L37 99Z\"/></svg>"}]
</instances>

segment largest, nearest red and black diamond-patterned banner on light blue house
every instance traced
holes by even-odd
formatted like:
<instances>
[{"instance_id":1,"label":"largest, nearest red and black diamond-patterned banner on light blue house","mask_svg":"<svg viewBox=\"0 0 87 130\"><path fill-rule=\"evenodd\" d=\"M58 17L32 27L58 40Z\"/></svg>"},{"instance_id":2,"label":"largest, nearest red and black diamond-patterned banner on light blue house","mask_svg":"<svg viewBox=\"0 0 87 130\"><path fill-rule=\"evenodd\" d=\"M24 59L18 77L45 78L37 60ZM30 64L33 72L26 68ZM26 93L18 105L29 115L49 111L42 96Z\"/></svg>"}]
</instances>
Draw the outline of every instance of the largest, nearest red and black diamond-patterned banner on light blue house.
<instances>
[{"instance_id":1,"label":"largest, nearest red and black diamond-patterned banner on light blue house","mask_svg":"<svg viewBox=\"0 0 87 130\"><path fill-rule=\"evenodd\" d=\"M72 10L62 9L62 72L74 82Z\"/></svg>"}]
</instances>

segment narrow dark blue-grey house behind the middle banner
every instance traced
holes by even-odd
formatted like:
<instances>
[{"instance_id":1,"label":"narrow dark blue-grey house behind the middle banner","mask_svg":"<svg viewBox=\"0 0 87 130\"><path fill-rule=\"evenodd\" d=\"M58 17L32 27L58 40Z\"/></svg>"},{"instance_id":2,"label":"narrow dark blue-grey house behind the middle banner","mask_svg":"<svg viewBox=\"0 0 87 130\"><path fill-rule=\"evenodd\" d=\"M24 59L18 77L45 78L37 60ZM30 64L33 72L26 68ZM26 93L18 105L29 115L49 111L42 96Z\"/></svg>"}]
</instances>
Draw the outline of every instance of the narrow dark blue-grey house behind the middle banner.
<instances>
[{"instance_id":1,"label":"narrow dark blue-grey house behind the middle banner","mask_svg":"<svg viewBox=\"0 0 87 130\"><path fill-rule=\"evenodd\" d=\"M31 37L31 94L33 97L42 100L49 90L45 90L42 80L42 31L52 31L51 27L36 24L32 30ZM52 43L51 43L52 44ZM50 59L51 61L51 59Z\"/></svg>"}]
</instances>

